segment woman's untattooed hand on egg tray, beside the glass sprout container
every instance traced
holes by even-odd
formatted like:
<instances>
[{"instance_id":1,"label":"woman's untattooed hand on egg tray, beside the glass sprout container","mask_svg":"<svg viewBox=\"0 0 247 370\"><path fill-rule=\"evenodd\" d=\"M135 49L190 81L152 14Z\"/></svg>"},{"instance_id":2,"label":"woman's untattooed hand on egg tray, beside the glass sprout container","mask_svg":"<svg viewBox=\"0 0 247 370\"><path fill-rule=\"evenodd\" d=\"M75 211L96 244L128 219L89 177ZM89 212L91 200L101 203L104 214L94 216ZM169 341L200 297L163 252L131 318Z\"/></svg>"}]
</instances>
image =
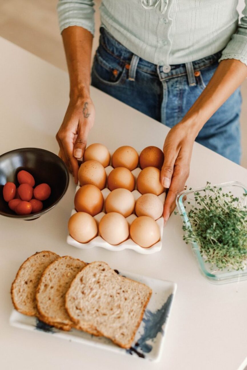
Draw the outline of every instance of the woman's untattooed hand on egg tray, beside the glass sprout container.
<instances>
[{"instance_id":1,"label":"woman's untattooed hand on egg tray, beside the glass sprout container","mask_svg":"<svg viewBox=\"0 0 247 370\"><path fill-rule=\"evenodd\" d=\"M190 160L197 132L187 122L179 122L170 129L164 142L164 164L161 168L160 181L168 188L163 217L164 222L176 207L176 197L184 189L189 176Z\"/></svg>"}]
</instances>

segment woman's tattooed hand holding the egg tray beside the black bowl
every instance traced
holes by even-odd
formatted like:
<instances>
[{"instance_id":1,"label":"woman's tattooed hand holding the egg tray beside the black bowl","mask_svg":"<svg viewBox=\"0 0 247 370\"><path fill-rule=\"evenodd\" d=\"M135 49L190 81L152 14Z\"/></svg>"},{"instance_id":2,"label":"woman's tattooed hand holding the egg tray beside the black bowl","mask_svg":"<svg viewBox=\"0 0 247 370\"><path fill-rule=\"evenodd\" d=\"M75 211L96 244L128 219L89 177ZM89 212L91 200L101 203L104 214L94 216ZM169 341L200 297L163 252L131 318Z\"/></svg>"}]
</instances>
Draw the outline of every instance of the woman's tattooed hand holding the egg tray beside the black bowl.
<instances>
[{"instance_id":1,"label":"woman's tattooed hand holding the egg tray beside the black bowl","mask_svg":"<svg viewBox=\"0 0 247 370\"><path fill-rule=\"evenodd\" d=\"M78 183L79 164L87 145L87 136L93 127L95 109L91 98L70 99L63 123L57 132L59 157L63 159Z\"/></svg>"}]
</instances>

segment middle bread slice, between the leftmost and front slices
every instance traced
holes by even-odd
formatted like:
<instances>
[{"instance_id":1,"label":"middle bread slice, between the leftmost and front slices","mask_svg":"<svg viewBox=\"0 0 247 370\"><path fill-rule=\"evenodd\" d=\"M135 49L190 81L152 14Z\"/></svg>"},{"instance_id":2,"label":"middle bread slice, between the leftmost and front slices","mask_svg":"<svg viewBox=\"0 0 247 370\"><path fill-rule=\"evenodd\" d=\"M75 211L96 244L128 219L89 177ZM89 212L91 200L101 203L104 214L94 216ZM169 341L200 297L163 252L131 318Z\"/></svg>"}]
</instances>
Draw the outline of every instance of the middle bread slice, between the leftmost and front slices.
<instances>
[{"instance_id":1,"label":"middle bread slice, between the leftmost and front slices","mask_svg":"<svg viewBox=\"0 0 247 370\"><path fill-rule=\"evenodd\" d=\"M58 329L71 330L74 323L65 309L65 294L71 281L86 265L79 259L64 256L44 270L36 290L36 303L45 323Z\"/></svg>"}]
</instances>

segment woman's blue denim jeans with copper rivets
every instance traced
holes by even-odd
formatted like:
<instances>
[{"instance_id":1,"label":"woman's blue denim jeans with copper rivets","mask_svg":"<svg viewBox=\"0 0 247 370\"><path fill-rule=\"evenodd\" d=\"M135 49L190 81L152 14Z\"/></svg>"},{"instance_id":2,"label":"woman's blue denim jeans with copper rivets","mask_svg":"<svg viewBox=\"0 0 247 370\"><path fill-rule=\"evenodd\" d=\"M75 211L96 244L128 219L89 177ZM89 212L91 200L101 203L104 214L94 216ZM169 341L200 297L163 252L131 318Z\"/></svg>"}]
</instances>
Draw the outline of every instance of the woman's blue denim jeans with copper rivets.
<instances>
[{"instance_id":1,"label":"woman's blue denim jeans with copper rivets","mask_svg":"<svg viewBox=\"0 0 247 370\"><path fill-rule=\"evenodd\" d=\"M94 58L91 84L157 121L173 127L197 100L213 76L221 53L171 70L131 53L103 27ZM241 93L238 88L213 114L196 141L240 163Z\"/></svg>"}]
</instances>

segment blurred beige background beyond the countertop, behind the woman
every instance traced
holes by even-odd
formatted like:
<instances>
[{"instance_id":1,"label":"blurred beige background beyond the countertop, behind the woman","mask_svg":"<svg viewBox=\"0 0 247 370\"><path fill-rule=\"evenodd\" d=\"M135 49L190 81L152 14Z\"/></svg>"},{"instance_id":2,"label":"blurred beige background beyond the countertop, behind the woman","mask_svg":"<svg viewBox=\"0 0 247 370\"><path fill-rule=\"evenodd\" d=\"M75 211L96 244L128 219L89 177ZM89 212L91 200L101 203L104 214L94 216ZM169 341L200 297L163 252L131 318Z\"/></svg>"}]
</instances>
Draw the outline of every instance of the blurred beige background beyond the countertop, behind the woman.
<instances>
[{"instance_id":1,"label":"blurred beige background beyond the countertop, behind the woman","mask_svg":"<svg viewBox=\"0 0 247 370\"><path fill-rule=\"evenodd\" d=\"M93 41L93 53L98 44L100 25L98 11L100 0L95 0L95 3L96 34ZM67 70L57 22L56 4L57 0L0 0L0 36L57 67ZM244 0L240 0L239 13L243 9ZM247 168L247 81L242 86L242 93L242 165Z\"/></svg>"}]
</instances>

